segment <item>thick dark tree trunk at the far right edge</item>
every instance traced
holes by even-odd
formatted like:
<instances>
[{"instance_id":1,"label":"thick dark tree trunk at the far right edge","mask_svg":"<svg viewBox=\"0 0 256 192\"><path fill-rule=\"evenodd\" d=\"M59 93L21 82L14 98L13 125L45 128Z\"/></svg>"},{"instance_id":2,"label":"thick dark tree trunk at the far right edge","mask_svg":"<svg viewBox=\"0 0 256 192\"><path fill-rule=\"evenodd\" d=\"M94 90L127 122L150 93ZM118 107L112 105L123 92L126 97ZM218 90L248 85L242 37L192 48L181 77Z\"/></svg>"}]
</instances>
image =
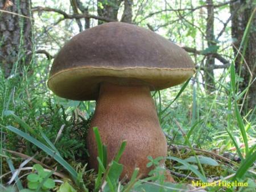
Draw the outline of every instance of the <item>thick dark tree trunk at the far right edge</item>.
<instances>
[{"instance_id":1,"label":"thick dark tree trunk at the far right edge","mask_svg":"<svg viewBox=\"0 0 256 192\"><path fill-rule=\"evenodd\" d=\"M247 2L247 3L246 3ZM253 11L256 9L256 3L253 0L250 1L237 1L230 3L230 12L233 14L232 18L232 38L233 42L233 51L234 56L237 55L238 49L242 41L243 33L249 18ZM241 57L242 53L244 58ZM241 54L240 54L241 53ZM256 74L256 16L254 11L253 19L251 20L251 27L249 32L249 41L247 46L243 44L243 47L240 50L240 53L237 55L235 61L236 72L240 74L240 77L243 78L243 81L240 82L240 91L245 90L247 86L250 85L250 82L254 80ZM256 106L256 82L254 82L250 88L246 97L246 105L243 110L246 112L246 108L254 108Z\"/></svg>"}]
</instances>

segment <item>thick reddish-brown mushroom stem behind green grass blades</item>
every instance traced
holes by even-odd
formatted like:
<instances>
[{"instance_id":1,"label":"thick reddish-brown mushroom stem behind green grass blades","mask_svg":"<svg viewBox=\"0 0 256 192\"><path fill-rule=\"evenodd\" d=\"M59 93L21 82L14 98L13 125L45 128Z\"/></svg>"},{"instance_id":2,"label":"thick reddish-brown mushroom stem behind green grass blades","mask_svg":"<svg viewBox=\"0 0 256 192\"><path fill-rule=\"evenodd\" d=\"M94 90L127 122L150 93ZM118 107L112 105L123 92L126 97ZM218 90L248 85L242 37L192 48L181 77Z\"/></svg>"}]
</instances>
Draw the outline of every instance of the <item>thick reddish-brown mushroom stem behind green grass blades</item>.
<instances>
[{"instance_id":1,"label":"thick reddish-brown mushroom stem behind green grass blades","mask_svg":"<svg viewBox=\"0 0 256 192\"><path fill-rule=\"evenodd\" d=\"M126 149L119 162L123 164L121 177L131 177L138 167L143 176L148 156L153 158L167 154L166 138L160 128L154 101L147 85L115 85L104 82L87 137L89 164L97 170L97 144L92 127L98 127L102 143L108 150L108 162L112 161L123 140Z\"/></svg>"}]
</instances>

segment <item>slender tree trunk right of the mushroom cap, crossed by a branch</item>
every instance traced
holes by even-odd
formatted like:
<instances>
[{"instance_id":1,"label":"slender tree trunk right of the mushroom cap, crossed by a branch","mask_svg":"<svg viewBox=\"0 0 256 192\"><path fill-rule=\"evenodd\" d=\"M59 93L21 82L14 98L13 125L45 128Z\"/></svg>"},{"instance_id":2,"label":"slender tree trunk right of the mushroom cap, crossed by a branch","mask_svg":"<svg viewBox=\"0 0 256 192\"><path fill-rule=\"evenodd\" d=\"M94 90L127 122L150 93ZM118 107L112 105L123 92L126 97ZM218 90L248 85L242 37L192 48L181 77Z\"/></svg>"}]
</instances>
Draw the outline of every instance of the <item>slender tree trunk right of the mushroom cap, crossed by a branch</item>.
<instances>
[{"instance_id":1,"label":"slender tree trunk right of the mushroom cap, crossed by a branch","mask_svg":"<svg viewBox=\"0 0 256 192\"><path fill-rule=\"evenodd\" d=\"M214 7L213 7L213 0L207 0L207 44L208 48L214 49L216 46L216 41L214 37ZM208 92L212 92L215 90L215 83L214 83L214 57L212 55L207 56L207 60L205 63L205 70L204 70L204 79L205 79L205 89Z\"/></svg>"}]
</instances>

